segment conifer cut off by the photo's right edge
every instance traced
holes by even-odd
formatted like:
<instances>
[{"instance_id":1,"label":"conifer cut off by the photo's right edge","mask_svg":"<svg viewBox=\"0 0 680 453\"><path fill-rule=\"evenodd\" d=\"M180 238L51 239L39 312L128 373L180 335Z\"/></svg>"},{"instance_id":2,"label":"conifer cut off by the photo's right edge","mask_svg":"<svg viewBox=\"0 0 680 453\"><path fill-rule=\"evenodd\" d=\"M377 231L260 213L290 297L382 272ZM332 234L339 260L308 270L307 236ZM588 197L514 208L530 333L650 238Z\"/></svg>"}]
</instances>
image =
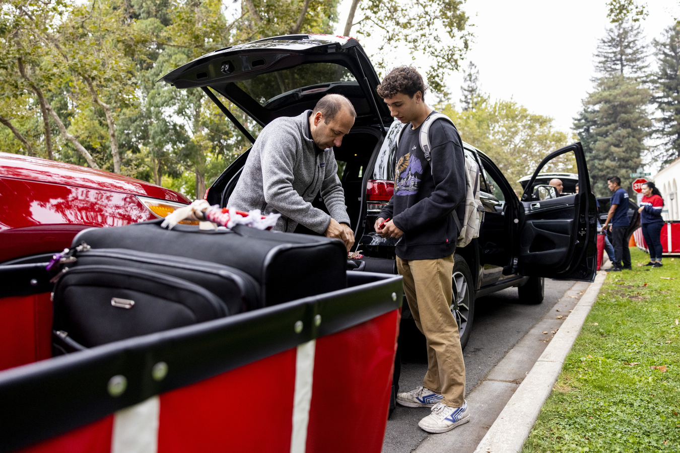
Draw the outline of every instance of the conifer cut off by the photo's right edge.
<instances>
[{"instance_id":1,"label":"conifer cut off by the photo's right edge","mask_svg":"<svg viewBox=\"0 0 680 453\"><path fill-rule=\"evenodd\" d=\"M655 158L664 165L680 158L680 24L668 27L665 35L663 41L654 41L658 72L653 80L661 114L655 132L662 139Z\"/></svg>"}]
</instances>

